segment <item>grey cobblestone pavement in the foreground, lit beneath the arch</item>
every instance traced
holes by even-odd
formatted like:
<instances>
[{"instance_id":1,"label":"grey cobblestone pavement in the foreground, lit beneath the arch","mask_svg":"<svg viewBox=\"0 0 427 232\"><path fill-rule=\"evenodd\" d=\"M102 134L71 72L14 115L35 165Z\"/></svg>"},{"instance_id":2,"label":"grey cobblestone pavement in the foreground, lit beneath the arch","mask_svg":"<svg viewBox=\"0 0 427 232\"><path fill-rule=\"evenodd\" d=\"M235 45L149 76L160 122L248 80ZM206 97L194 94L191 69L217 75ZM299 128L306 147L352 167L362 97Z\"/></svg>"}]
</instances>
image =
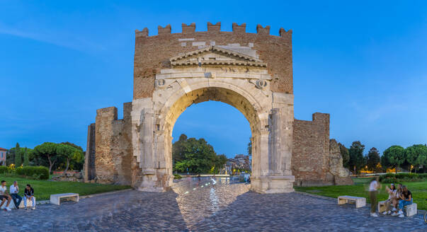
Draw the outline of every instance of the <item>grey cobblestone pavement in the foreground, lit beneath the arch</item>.
<instances>
[{"instance_id":1,"label":"grey cobblestone pavement in the foreground, lit beneath the arch","mask_svg":"<svg viewBox=\"0 0 427 232\"><path fill-rule=\"evenodd\" d=\"M173 191L130 190L34 211L0 211L1 230L427 231L421 215L371 218L368 207L299 193L261 195L224 178L183 180Z\"/></svg>"}]
</instances>

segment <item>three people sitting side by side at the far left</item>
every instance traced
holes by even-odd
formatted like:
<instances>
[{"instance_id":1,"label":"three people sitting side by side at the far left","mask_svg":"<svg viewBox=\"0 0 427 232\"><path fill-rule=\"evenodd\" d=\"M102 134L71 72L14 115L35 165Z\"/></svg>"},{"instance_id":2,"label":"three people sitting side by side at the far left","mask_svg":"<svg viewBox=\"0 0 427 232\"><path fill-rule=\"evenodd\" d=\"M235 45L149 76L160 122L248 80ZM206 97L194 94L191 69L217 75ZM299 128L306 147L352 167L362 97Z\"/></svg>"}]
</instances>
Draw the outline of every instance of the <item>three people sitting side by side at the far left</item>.
<instances>
[{"instance_id":1,"label":"three people sitting side by side at the far left","mask_svg":"<svg viewBox=\"0 0 427 232\"><path fill-rule=\"evenodd\" d=\"M27 208L27 199L31 200L33 202L33 207L31 209L35 209L35 197L34 197L34 189L31 187L31 185L27 185L24 190L24 195L21 197L19 195L19 186L18 182L14 181L13 185L9 187L9 191L6 187L6 181L1 180L0 185L0 209L3 207L3 204L6 204L6 207L4 207L5 211L11 211L10 204L13 200L13 204L15 204L16 209L19 209L19 205L21 204L21 201L24 200L24 208Z\"/></svg>"}]
</instances>

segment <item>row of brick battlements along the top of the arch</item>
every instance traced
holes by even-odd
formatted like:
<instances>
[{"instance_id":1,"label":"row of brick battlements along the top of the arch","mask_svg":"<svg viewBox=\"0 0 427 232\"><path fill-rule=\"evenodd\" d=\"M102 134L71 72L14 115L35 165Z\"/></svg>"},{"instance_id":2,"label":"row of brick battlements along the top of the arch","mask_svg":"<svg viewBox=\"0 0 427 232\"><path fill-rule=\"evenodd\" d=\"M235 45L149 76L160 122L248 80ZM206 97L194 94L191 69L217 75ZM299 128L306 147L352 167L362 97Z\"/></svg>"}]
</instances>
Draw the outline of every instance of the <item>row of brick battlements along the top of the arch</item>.
<instances>
[{"instance_id":1,"label":"row of brick battlements along the top of the arch","mask_svg":"<svg viewBox=\"0 0 427 232\"><path fill-rule=\"evenodd\" d=\"M165 27L162 27L161 25L159 25L157 27L158 30L158 35L170 35L172 34L172 28L171 25L168 24ZM186 24L183 23L182 24L182 32L181 34L194 34L194 33L206 33L206 31L200 31L200 32L196 32L195 31L195 23L190 23L190 24ZM232 32L225 32L225 31L221 31L221 22L212 24L210 22L207 22L207 33L246 33L246 23L241 23L241 25L238 25L237 23L233 23L232 25ZM178 34L178 33L173 33L173 34ZM254 33L250 33L250 34L254 34ZM256 34L258 35L269 35L269 36L276 36L276 35L270 35L270 26L267 25L266 27L263 27L261 24L256 25ZM149 37L149 31L148 28L144 28L142 31L140 30L135 30L135 35L137 37ZM151 35L151 36L158 36L158 35ZM287 37L292 35L292 30L285 30L283 28L279 29L279 36L280 37Z\"/></svg>"}]
</instances>

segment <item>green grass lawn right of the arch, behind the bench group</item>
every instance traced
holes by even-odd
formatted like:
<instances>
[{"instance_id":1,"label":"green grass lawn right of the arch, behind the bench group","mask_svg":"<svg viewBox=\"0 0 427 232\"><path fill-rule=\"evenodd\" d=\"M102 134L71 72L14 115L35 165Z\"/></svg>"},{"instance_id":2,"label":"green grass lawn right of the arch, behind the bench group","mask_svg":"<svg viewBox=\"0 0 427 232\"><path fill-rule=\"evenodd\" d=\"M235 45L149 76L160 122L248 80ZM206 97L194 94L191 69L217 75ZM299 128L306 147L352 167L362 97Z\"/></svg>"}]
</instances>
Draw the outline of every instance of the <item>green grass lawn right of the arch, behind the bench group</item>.
<instances>
[{"instance_id":1,"label":"green grass lawn right of the arch, behind the bench group","mask_svg":"<svg viewBox=\"0 0 427 232\"><path fill-rule=\"evenodd\" d=\"M307 192L314 195L321 195L325 197L334 197L349 195L355 197L366 197L370 202L368 196L368 185L372 178L354 178L354 185L341 185L341 186L321 186L321 187L295 187L295 190L300 192ZM378 201L383 201L389 197L385 192L385 186L390 184L382 184L382 189L378 192ZM427 209L427 181L422 182L402 182L406 185L408 190L412 192L414 202L417 204L418 209Z\"/></svg>"}]
</instances>

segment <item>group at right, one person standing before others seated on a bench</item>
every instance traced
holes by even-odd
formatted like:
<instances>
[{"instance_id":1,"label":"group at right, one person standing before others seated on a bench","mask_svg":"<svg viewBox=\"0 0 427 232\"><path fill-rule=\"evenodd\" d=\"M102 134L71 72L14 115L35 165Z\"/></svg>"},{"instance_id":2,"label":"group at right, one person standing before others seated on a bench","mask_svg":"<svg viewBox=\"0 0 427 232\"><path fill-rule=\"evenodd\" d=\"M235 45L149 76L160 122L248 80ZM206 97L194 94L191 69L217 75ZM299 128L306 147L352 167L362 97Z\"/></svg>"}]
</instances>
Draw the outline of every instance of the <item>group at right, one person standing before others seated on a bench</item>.
<instances>
[{"instance_id":1,"label":"group at right, one person standing before others seated on a bench","mask_svg":"<svg viewBox=\"0 0 427 232\"><path fill-rule=\"evenodd\" d=\"M375 208L377 206L377 193L380 188L381 185L378 178L375 178L370 182L370 216L378 216L375 212ZM397 185L397 188L394 184L390 184L390 187L386 186L385 190L389 194L389 198L385 202L386 210L382 212L382 214L404 217L403 208L413 202L411 191L402 184ZM390 210L390 206L393 207L392 210Z\"/></svg>"}]
</instances>

